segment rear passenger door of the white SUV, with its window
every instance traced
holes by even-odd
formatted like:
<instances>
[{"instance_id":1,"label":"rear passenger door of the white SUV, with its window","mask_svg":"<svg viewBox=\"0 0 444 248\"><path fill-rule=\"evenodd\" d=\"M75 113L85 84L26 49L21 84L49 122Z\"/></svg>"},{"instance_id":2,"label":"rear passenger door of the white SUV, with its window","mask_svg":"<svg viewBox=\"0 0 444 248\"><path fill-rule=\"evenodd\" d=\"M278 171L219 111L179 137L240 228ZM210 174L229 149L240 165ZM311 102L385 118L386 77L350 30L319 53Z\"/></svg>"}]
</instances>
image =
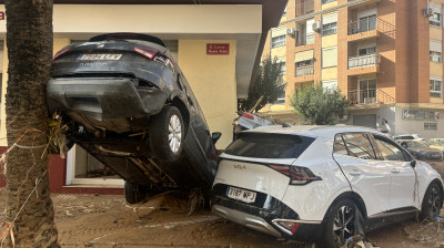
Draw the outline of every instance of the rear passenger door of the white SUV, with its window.
<instances>
[{"instance_id":1,"label":"rear passenger door of the white SUV, with its window","mask_svg":"<svg viewBox=\"0 0 444 248\"><path fill-rule=\"evenodd\" d=\"M341 166L352 190L366 206L367 215L386 211L390 207L391 173L379 159L366 133L336 134L333 158Z\"/></svg>"}]
</instances>

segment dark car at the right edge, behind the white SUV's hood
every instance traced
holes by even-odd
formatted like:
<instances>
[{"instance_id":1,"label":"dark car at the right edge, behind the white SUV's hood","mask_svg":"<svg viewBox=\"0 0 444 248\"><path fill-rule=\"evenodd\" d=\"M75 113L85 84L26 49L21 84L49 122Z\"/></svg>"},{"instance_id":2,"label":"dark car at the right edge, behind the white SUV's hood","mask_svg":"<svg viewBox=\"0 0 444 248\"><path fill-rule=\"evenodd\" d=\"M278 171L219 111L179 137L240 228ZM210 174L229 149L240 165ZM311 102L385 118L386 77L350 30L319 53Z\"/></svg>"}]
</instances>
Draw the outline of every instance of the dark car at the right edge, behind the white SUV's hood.
<instances>
[{"instance_id":1,"label":"dark car at the right edge, behind the white SUV's hood","mask_svg":"<svg viewBox=\"0 0 444 248\"><path fill-rule=\"evenodd\" d=\"M421 161L442 161L443 153L441 149L432 148L425 142L414 140L398 140L404 148L406 148L416 159Z\"/></svg>"}]
</instances>

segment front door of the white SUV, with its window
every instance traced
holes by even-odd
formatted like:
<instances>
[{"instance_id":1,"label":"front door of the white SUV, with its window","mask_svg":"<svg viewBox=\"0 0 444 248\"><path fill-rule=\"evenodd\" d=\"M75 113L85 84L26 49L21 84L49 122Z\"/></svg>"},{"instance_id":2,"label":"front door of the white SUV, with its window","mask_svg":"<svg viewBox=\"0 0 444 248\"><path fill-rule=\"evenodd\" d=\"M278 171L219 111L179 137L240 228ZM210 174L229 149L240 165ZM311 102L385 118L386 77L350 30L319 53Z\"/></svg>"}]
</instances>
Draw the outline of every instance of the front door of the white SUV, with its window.
<instances>
[{"instance_id":1,"label":"front door of the white SUV, with its window","mask_svg":"<svg viewBox=\"0 0 444 248\"><path fill-rule=\"evenodd\" d=\"M418 207L417 182L413 159L398 144L382 135L373 135L384 164L392 175L390 209Z\"/></svg>"}]
</instances>

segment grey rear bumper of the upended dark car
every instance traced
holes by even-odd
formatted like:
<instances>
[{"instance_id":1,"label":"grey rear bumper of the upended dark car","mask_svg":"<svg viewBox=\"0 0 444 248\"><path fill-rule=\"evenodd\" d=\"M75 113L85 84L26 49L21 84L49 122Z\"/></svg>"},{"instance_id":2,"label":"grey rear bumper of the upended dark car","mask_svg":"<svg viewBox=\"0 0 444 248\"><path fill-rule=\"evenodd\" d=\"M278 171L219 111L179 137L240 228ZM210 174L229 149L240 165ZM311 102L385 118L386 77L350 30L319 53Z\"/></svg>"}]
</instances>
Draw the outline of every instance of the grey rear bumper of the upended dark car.
<instances>
[{"instance_id":1,"label":"grey rear bumper of the upended dark car","mask_svg":"<svg viewBox=\"0 0 444 248\"><path fill-rule=\"evenodd\" d=\"M168 95L155 87L135 87L133 79L51 79L47 85L50 112L64 108L98 121L142 117L159 113Z\"/></svg>"}]
</instances>

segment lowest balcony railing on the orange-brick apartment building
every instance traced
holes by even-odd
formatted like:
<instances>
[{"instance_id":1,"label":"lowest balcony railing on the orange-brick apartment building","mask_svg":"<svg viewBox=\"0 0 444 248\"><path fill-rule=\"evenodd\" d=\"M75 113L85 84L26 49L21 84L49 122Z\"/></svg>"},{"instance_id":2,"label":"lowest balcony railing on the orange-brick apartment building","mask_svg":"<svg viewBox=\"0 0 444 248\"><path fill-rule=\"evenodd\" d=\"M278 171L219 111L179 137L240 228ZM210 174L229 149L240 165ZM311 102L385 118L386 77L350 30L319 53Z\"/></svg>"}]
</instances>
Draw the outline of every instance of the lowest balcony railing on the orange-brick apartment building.
<instances>
[{"instance_id":1,"label":"lowest balcony railing on the orange-brick apartment building","mask_svg":"<svg viewBox=\"0 0 444 248\"><path fill-rule=\"evenodd\" d=\"M390 104L395 103L395 99L382 90L367 89L367 90L352 90L347 93L349 100L353 105L355 104L372 104L383 103Z\"/></svg>"}]
</instances>

